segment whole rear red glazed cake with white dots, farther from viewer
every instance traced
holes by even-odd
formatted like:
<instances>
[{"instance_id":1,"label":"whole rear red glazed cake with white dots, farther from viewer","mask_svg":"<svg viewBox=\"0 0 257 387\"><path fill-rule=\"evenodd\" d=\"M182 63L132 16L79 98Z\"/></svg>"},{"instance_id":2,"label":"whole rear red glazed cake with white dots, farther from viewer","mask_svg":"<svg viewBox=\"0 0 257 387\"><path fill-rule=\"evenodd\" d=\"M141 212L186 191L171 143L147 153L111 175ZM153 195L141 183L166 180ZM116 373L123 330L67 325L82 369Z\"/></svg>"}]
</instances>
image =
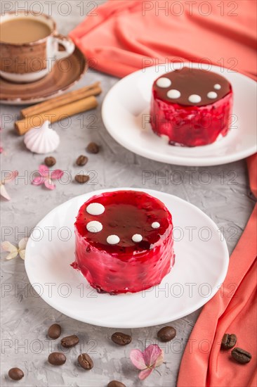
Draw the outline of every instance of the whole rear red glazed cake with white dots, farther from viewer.
<instances>
[{"instance_id":1,"label":"whole rear red glazed cake with white dots, farther from viewer","mask_svg":"<svg viewBox=\"0 0 257 387\"><path fill-rule=\"evenodd\" d=\"M230 82L215 72L184 67L154 81L150 122L171 145L211 144L228 134Z\"/></svg>"}]
</instances>

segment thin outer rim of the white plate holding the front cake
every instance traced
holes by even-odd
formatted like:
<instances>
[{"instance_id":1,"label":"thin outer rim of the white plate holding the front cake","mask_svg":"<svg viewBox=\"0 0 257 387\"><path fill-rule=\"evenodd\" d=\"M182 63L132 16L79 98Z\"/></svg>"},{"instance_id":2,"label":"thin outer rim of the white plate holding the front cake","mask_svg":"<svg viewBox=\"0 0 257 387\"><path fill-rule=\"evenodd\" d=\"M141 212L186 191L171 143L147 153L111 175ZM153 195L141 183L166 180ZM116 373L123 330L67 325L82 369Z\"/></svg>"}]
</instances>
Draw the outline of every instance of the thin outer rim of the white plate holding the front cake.
<instances>
[{"instance_id":1,"label":"thin outer rim of the white plate holding the front cake","mask_svg":"<svg viewBox=\"0 0 257 387\"><path fill-rule=\"evenodd\" d=\"M106 191L118 191L118 190L124 190L124 189L129 189L129 190L133 190L133 191L145 191L146 193L148 194L152 194L152 196L154 196L154 192L157 192L158 194L162 194L164 196L171 196L173 199L175 199L176 201L179 201L180 203L187 203L187 205L195 208L195 210L197 210L197 212L199 212L202 216L204 216L205 219L208 219L209 222L211 222L211 224L215 227L217 227L217 224L211 219L211 217L209 217L208 215L206 215L206 213L202 210L200 210L196 205L188 202L188 201L185 201L183 198L180 198L176 195L173 195L173 194L169 194L167 192L162 192L162 191L156 191L156 190L153 190L153 189L142 189L142 188L128 188L128 187L119 187L119 188L112 188L112 189L99 189L99 190L96 190L96 191L90 191L90 192L87 192L86 194L81 194L79 196L74 196L73 198L70 198L68 201L65 201L64 203L61 203L60 205L57 205L55 208L53 208L53 210L49 211L38 223L37 225L35 226L36 227L40 227L40 224L41 222L44 222L44 220L46 219L46 217L48 217L49 215L51 215L53 212L55 212L56 210L58 210L58 208L62 207L62 205L67 205L68 203L74 201L74 200L77 200L79 198L83 198L86 196L86 200L88 200L88 196L90 197L93 196L93 195L96 195L96 194L101 194L103 192L106 192ZM164 203L165 204L165 203ZM29 248L30 246L30 243L32 243L32 239L31 239L31 236L29 236L29 240L27 241L27 247L26 247L26 250L27 248ZM52 241L53 243L53 241ZM225 238L222 240L220 239L220 244L221 246L223 246L223 252L224 252L224 258L223 258L223 271L220 273L220 276L218 277L218 283L223 283L226 275L227 275L227 272L228 272L228 265L229 265L229 262L230 262L230 255L229 255L229 251L228 251L228 245L227 245L227 242L225 241ZM31 286L34 288L33 284L35 283L34 281L32 281L33 279L33 274L31 272L31 269L29 269L29 263L28 263L28 260L26 260L26 257L25 257L25 271L27 273L27 277L29 279L29 283L31 284ZM35 283L37 284L37 282ZM34 291L37 291L37 288L34 288ZM207 302L209 302L209 300L211 300L211 298L213 298L216 293L218 292L218 286L216 286L215 288L213 287L212 289L212 293L211 293L211 297L208 297L208 298L202 298L202 302L199 302L199 303L195 303L192 305L192 307L188 308L186 313L185 311L181 312L180 314L176 315L174 318L171 317L169 320L167 320L166 318L160 318L160 319L157 319L155 318L154 321L151 319L151 322L150 323L146 323L145 322L142 324L133 324L133 322L124 322L123 324L119 324L117 326L115 326L112 322L96 322L94 319L91 319L90 317L85 317L85 318L81 318L81 317L78 317L78 316L74 316L74 313L70 312L70 310L67 310L67 308L65 309L65 307L56 307L56 304L54 302L51 302L52 301L52 298L48 298L47 296L44 295L41 295L39 294L39 296L48 304L50 305L51 307L53 307L53 309L61 312L62 314L72 318L72 319L76 319L77 321L81 321L81 322L84 322L86 324L92 324L92 325L95 325L95 326L103 326L103 327L106 327L106 328L121 328L121 329L136 329L136 328L143 328L143 327L147 327L147 326L157 326L159 324L166 324L168 322L172 322L172 321L175 321L176 319L180 319L182 317L185 317L187 315L190 315L190 313L192 312L195 312L196 310L198 310L200 307L202 307L203 305L205 305ZM121 295L122 296L122 295ZM132 296L133 296L133 293L132 293ZM130 320L129 320L130 321Z\"/></svg>"}]
</instances>

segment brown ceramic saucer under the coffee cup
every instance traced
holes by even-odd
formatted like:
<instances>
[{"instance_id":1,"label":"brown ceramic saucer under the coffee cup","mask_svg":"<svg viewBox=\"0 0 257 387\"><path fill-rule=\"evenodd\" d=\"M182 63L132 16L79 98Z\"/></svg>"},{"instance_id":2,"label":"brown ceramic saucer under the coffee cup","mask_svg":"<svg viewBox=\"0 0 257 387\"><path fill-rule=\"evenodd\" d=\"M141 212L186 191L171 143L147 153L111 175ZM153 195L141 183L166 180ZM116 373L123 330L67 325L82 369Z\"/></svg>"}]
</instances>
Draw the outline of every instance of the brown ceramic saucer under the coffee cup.
<instances>
[{"instance_id":1,"label":"brown ceramic saucer under the coffee cup","mask_svg":"<svg viewBox=\"0 0 257 387\"><path fill-rule=\"evenodd\" d=\"M0 102L27 105L51 99L73 86L87 69L86 58L76 47L71 56L60 59L46 77L36 82L19 84L0 77Z\"/></svg>"}]
</instances>

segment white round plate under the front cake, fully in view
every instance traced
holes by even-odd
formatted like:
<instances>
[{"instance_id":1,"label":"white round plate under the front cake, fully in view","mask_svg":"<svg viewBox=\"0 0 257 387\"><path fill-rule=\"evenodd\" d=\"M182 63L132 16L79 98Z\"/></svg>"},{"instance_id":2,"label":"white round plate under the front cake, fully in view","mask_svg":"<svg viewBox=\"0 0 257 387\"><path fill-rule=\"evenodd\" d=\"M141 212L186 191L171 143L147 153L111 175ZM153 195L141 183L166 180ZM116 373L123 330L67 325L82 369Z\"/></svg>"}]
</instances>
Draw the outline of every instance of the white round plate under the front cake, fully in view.
<instances>
[{"instance_id":1,"label":"white round plate under the front cake, fully in view","mask_svg":"<svg viewBox=\"0 0 257 387\"><path fill-rule=\"evenodd\" d=\"M69 317L116 328L164 324L202 307L225 279L228 248L218 227L204 212L164 192L134 189L159 198L173 215L176 263L159 286L117 296L99 294L70 266L74 261L74 221L80 206L94 194L116 190L72 198L37 224L25 258L34 290Z\"/></svg>"}]
</instances>

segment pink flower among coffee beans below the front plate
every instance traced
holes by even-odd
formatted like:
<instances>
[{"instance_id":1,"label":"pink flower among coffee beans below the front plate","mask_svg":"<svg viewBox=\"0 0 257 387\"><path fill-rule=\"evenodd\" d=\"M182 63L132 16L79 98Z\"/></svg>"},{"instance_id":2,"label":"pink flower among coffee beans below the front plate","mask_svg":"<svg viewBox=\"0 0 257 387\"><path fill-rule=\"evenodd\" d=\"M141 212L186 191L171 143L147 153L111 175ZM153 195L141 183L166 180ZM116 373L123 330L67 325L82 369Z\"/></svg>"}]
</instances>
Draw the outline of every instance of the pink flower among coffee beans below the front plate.
<instances>
[{"instance_id":1,"label":"pink flower among coffee beans below the front plate","mask_svg":"<svg viewBox=\"0 0 257 387\"><path fill-rule=\"evenodd\" d=\"M155 367L158 367L164 361L164 351L159 345L152 344L145 348L144 352L140 350L131 350L131 362L138 369L141 369L138 377L144 380L151 374Z\"/></svg>"}]
</instances>

